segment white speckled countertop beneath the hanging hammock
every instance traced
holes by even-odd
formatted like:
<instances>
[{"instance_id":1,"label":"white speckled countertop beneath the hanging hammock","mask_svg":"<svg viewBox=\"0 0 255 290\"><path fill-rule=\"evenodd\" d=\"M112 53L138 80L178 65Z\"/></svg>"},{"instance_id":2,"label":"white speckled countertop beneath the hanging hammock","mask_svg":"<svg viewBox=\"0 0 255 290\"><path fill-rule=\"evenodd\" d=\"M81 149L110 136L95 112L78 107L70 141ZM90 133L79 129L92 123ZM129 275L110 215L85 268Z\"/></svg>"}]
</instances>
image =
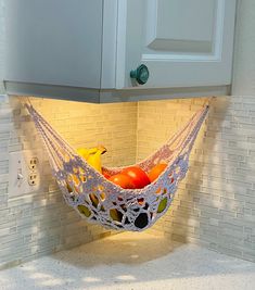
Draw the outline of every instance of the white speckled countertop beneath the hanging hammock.
<instances>
[{"instance_id":1,"label":"white speckled countertop beneath the hanging hammock","mask_svg":"<svg viewBox=\"0 0 255 290\"><path fill-rule=\"evenodd\" d=\"M254 290L255 264L125 232L2 270L0 289Z\"/></svg>"}]
</instances>

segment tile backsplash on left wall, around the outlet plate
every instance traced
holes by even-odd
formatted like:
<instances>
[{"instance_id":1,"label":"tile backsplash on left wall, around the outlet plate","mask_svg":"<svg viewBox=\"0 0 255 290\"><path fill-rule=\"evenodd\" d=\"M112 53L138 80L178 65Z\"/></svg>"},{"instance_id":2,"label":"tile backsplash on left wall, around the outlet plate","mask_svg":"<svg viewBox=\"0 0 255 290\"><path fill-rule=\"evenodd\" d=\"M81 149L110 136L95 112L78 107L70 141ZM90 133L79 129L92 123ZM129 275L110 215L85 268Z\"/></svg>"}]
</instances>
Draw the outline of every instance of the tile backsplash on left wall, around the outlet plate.
<instances>
[{"instance_id":1,"label":"tile backsplash on left wall, around the outlet plate","mask_svg":"<svg viewBox=\"0 0 255 290\"><path fill-rule=\"evenodd\" d=\"M23 99L24 100L24 99ZM88 104L33 99L50 123L75 148L103 143L105 165L136 160L137 103ZM9 191L10 154L42 150L42 187L12 198ZM72 248L110 235L88 225L68 207L51 177L46 151L27 111L17 98L0 98L0 268Z\"/></svg>"}]
</instances>

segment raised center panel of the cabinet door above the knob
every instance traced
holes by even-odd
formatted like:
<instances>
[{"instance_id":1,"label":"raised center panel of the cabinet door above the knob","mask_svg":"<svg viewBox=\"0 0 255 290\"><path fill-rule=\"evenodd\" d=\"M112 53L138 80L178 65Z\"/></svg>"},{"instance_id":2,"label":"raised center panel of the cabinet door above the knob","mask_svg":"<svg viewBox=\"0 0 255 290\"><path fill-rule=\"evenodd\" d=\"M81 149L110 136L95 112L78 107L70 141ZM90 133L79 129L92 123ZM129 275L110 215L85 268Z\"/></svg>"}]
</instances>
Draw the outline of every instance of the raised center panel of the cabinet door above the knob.
<instances>
[{"instance_id":1,"label":"raised center panel of the cabinet door above the knob","mask_svg":"<svg viewBox=\"0 0 255 290\"><path fill-rule=\"evenodd\" d=\"M214 0L149 1L146 47L155 51L211 52L215 4ZM203 13L197 14L195 7Z\"/></svg>"}]
</instances>

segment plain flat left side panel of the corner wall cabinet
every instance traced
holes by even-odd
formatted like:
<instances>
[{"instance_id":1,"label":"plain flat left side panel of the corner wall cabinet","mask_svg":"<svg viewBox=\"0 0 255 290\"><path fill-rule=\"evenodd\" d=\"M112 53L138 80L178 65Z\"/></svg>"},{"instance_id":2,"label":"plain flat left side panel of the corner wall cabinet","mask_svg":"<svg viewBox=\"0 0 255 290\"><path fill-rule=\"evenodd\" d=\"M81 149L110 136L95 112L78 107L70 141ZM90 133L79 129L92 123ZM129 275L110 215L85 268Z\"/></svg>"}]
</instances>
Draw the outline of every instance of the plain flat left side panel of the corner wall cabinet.
<instances>
[{"instance_id":1,"label":"plain flat left side panel of the corner wall cabinet","mask_svg":"<svg viewBox=\"0 0 255 290\"><path fill-rule=\"evenodd\" d=\"M100 88L103 0L7 0L5 80Z\"/></svg>"}]
</instances>

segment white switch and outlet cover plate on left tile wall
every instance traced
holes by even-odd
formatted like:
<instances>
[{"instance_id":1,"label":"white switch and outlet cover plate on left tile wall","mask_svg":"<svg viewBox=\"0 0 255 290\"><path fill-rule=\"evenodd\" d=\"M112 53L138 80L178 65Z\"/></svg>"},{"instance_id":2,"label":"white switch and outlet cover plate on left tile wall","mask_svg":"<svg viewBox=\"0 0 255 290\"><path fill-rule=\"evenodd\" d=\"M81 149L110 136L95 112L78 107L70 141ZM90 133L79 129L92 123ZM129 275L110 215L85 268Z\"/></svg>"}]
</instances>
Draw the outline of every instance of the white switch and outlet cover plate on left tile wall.
<instances>
[{"instance_id":1,"label":"white switch and outlet cover plate on left tile wall","mask_svg":"<svg viewBox=\"0 0 255 290\"><path fill-rule=\"evenodd\" d=\"M41 151L23 150L10 153L9 160L9 197L18 197L24 193L30 193L40 189L40 173L41 173ZM36 171L29 169L29 160L37 157L38 166ZM18 173L23 176L17 179ZM38 181L35 186L28 184L28 176L30 173L36 173Z\"/></svg>"}]
</instances>

